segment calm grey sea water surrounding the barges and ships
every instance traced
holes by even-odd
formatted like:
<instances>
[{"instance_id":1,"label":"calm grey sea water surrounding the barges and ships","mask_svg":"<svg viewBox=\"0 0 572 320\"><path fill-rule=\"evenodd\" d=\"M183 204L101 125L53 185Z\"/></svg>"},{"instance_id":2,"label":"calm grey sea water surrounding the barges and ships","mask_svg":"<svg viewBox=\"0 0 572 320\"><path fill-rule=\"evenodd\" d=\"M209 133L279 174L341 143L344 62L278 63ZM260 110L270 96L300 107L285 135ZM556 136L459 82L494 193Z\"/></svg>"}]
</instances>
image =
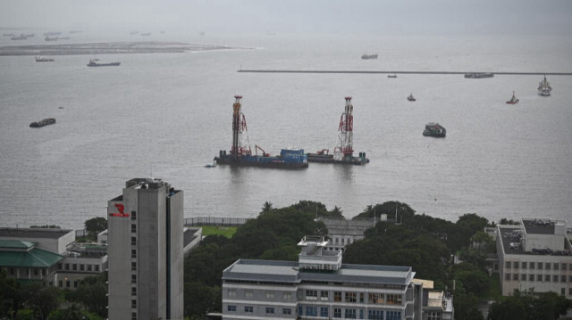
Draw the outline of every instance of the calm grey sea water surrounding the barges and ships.
<instances>
[{"instance_id":1,"label":"calm grey sea water surrounding the barges and ships","mask_svg":"<svg viewBox=\"0 0 572 320\"><path fill-rule=\"evenodd\" d=\"M30 41L42 42L42 37ZM74 36L72 42L142 40ZM154 176L185 193L185 217L257 217L321 201L354 217L369 204L403 201L455 221L475 212L572 220L572 77L466 79L462 75L258 74L240 69L571 72L570 37L374 35L152 36L240 46L199 53L0 57L0 225L81 228L105 217L132 177ZM6 38L0 45L14 45ZM23 44L21 44L23 45ZM379 53L361 60L362 53ZM520 102L508 105L512 91ZM417 101L409 103L408 94ZM231 146L241 94L249 142L333 151L344 97L354 105L361 167L303 170L205 168ZM60 109L62 108L62 109ZM54 117L52 126L29 123ZM422 135L425 123L447 137Z\"/></svg>"}]
</instances>

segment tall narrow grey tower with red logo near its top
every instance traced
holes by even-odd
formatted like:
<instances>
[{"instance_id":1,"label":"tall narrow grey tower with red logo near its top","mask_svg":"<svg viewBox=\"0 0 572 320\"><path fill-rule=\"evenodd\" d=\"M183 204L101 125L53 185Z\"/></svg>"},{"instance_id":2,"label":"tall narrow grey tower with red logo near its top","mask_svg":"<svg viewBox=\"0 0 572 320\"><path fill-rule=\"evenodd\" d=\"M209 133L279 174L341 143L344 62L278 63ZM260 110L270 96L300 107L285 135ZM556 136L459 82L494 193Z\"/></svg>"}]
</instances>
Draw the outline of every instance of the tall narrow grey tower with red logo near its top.
<instances>
[{"instance_id":1,"label":"tall narrow grey tower with red logo near its top","mask_svg":"<svg viewBox=\"0 0 572 320\"><path fill-rule=\"evenodd\" d=\"M109 319L183 318L183 193L134 178L108 201Z\"/></svg>"}]
</instances>

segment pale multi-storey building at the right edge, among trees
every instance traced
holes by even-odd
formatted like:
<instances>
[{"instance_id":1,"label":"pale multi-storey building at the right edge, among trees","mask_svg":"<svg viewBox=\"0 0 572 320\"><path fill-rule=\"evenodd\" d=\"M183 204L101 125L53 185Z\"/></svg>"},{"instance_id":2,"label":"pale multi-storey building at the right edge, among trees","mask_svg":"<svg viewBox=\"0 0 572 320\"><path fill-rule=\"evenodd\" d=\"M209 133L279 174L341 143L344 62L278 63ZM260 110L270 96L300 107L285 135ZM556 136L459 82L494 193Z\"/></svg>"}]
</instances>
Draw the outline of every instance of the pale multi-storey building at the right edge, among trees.
<instances>
[{"instance_id":1,"label":"pale multi-storey building at the right edge, among trees","mask_svg":"<svg viewBox=\"0 0 572 320\"><path fill-rule=\"evenodd\" d=\"M503 295L534 289L572 299L572 245L566 220L522 218L518 226L500 225L496 243Z\"/></svg>"}]
</instances>

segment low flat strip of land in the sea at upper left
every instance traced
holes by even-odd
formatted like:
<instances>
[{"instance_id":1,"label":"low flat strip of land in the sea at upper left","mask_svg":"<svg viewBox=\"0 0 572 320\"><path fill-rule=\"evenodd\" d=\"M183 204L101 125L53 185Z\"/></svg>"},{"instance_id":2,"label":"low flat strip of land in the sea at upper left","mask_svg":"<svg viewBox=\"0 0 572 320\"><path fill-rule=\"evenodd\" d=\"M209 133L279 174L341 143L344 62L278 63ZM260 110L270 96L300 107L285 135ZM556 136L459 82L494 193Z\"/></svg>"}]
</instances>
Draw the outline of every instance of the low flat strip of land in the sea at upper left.
<instances>
[{"instance_id":1,"label":"low flat strip of land in the sea at upper left","mask_svg":"<svg viewBox=\"0 0 572 320\"><path fill-rule=\"evenodd\" d=\"M57 45L5 45L0 46L0 56L18 55L77 55L121 53L185 53L189 51L245 49L225 45L198 45L182 42L101 42Z\"/></svg>"}]
</instances>

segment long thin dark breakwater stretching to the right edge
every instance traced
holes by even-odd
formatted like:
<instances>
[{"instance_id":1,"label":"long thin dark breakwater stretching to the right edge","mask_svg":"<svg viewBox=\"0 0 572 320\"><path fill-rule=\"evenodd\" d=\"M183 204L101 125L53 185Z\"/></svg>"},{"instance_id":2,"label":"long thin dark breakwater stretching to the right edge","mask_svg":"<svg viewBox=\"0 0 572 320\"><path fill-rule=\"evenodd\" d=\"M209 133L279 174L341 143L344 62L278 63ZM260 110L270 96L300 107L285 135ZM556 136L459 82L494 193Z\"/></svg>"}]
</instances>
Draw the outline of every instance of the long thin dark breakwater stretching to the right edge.
<instances>
[{"instance_id":1,"label":"long thin dark breakwater stretching to the right edge","mask_svg":"<svg viewBox=\"0 0 572 320\"><path fill-rule=\"evenodd\" d=\"M465 75L492 73L495 76L572 76L572 72L495 72L495 71L367 71L367 70L237 70L248 73L330 73L330 74L408 74L408 75Z\"/></svg>"}]
</instances>

